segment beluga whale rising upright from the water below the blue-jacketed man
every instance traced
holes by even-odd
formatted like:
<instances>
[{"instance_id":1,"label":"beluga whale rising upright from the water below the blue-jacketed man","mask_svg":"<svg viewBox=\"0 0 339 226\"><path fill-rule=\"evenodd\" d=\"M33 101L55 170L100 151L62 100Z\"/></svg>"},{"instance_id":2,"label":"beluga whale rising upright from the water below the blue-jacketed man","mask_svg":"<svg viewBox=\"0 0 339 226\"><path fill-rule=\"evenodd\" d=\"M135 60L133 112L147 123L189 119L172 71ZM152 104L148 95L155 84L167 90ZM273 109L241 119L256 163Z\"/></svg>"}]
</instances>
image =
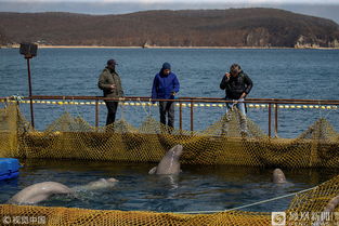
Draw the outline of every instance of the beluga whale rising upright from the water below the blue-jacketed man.
<instances>
[{"instance_id":1,"label":"beluga whale rising upright from the water below the blue-jacketed man","mask_svg":"<svg viewBox=\"0 0 339 226\"><path fill-rule=\"evenodd\" d=\"M159 164L149 170L148 174L169 175L180 173L180 156L182 155L182 145L175 145L160 160Z\"/></svg>"}]
</instances>

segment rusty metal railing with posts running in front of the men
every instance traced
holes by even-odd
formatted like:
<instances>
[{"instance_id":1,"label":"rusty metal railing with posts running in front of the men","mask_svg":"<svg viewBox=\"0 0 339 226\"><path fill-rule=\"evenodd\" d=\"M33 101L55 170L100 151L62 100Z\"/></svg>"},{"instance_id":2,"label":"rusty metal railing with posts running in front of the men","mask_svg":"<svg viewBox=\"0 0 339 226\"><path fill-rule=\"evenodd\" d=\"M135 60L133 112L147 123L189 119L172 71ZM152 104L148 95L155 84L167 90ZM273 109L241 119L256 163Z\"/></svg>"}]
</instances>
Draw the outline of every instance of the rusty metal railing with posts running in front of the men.
<instances>
[{"instance_id":1,"label":"rusty metal railing with posts running in front of the men","mask_svg":"<svg viewBox=\"0 0 339 226\"><path fill-rule=\"evenodd\" d=\"M11 99L11 97L1 97L0 99ZM30 104L35 99L63 99L63 101L95 101L95 127L99 127L99 102L100 101L116 101L116 102L168 102L169 99L152 99L148 96L123 96L120 98L102 97L102 96L55 96L55 95L34 95L28 97L22 97L22 99L29 99ZM232 101L225 101L224 98L213 97L180 97L170 99L171 102L179 103L179 128L182 130L182 108L183 104L188 103L191 108L191 131L194 131L194 103L214 103L225 104L233 103ZM288 99L288 98L246 98L246 104L266 104L269 109L269 137L271 137L272 131L272 108L274 109L274 134L277 136L278 132L278 108L279 105L292 104L292 105L339 105L337 99ZM31 111L31 120L34 120L34 114Z\"/></svg>"}]
</instances>

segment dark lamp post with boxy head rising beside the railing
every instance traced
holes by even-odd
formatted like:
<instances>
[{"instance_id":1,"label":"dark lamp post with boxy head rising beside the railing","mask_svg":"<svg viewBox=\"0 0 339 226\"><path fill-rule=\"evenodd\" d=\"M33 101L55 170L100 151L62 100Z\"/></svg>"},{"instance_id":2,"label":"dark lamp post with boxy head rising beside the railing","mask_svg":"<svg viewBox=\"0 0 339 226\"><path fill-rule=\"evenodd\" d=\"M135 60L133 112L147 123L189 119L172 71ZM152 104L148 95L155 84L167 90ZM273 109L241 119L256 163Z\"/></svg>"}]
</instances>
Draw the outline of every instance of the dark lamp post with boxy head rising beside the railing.
<instances>
[{"instance_id":1,"label":"dark lamp post with boxy head rising beside the railing","mask_svg":"<svg viewBox=\"0 0 339 226\"><path fill-rule=\"evenodd\" d=\"M32 99L31 99L31 79L30 79L30 62L34 56L37 55L38 45L34 43L21 43L19 44L19 53L25 56L27 59L27 70L28 70L28 90L30 97L30 123L32 129L35 129L35 117L32 110Z\"/></svg>"}]
</instances>

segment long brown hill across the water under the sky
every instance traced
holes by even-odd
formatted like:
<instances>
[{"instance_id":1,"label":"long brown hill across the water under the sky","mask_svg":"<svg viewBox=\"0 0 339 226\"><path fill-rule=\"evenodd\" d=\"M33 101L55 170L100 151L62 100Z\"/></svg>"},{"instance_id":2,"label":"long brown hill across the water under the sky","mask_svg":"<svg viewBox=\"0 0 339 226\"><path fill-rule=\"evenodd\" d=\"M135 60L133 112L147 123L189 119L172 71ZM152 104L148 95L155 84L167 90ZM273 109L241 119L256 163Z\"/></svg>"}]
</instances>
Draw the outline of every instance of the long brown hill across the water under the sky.
<instances>
[{"instance_id":1,"label":"long brown hill across the water under the sky","mask_svg":"<svg viewBox=\"0 0 339 226\"><path fill-rule=\"evenodd\" d=\"M146 11L122 15L0 13L0 43L114 46L339 48L330 19L276 9Z\"/></svg>"}]
</instances>

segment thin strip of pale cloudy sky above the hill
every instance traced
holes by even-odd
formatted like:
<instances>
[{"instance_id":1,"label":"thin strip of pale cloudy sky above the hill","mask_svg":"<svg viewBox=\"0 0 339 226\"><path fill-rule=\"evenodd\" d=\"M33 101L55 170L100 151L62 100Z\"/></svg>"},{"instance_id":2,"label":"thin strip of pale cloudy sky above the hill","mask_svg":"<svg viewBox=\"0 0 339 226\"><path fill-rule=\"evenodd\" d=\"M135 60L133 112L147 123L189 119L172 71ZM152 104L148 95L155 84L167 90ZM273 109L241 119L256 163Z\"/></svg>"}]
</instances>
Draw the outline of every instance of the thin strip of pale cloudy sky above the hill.
<instances>
[{"instance_id":1,"label":"thin strip of pale cloudy sky above the hill","mask_svg":"<svg viewBox=\"0 0 339 226\"><path fill-rule=\"evenodd\" d=\"M0 0L0 12L125 14L147 10L275 8L339 24L339 0Z\"/></svg>"}]
</instances>

